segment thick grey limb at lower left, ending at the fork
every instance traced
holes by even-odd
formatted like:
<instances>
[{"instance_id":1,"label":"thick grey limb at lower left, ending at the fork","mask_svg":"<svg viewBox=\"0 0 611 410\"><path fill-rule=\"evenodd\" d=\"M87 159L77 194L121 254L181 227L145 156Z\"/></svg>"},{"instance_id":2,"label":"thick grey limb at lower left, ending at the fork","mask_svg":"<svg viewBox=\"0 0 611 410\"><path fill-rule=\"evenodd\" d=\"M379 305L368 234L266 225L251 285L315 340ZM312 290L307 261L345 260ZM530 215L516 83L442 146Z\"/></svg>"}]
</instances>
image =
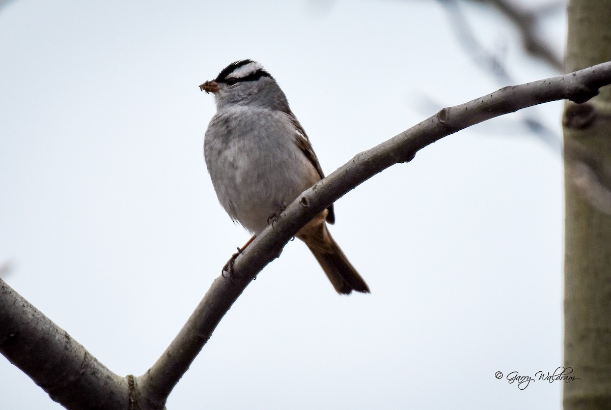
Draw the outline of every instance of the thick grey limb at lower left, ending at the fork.
<instances>
[{"instance_id":1,"label":"thick grey limb at lower left, ending at the fork","mask_svg":"<svg viewBox=\"0 0 611 410\"><path fill-rule=\"evenodd\" d=\"M127 384L0 279L0 352L68 409L122 409Z\"/></svg>"}]
</instances>

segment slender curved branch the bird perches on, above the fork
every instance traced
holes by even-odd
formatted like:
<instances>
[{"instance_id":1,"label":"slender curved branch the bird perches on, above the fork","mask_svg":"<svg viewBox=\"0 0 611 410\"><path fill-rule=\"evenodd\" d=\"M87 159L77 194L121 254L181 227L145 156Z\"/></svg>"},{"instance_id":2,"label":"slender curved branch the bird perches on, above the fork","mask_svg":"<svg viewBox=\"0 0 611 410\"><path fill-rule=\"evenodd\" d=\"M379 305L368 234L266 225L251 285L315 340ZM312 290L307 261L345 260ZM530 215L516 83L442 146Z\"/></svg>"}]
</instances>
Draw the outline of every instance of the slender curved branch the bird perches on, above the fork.
<instances>
[{"instance_id":1,"label":"slender curved branch the bird perches on, above the fork","mask_svg":"<svg viewBox=\"0 0 611 410\"><path fill-rule=\"evenodd\" d=\"M233 302L284 245L312 217L350 190L391 165L409 162L420 149L490 118L558 99L584 103L611 84L611 62L529 84L505 87L459 106L444 108L375 148L357 154L299 196L233 264L232 275L219 276L161 358L137 378L141 397L160 406L196 358Z\"/></svg>"}]
</instances>

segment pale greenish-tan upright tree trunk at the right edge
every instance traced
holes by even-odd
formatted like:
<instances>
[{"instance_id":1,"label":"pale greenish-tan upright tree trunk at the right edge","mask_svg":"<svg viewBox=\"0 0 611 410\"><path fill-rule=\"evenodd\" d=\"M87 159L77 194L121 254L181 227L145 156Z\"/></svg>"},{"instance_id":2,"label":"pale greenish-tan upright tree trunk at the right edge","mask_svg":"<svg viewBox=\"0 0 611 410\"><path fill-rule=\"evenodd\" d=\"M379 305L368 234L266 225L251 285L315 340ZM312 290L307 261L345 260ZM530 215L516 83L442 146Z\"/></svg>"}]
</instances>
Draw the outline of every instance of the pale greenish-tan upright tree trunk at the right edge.
<instances>
[{"instance_id":1,"label":"pale greenish-tan upright tree trunk at the right edge","mask_svg":"<svg viewBox=\"0 0 611 410\"><path fill-rule=\"evenodd\" d=\"M611 0L571 0L566 70L611 60ZM611 87L568 102L564 408L611 409Z\"/></svg>"}]
</instances>

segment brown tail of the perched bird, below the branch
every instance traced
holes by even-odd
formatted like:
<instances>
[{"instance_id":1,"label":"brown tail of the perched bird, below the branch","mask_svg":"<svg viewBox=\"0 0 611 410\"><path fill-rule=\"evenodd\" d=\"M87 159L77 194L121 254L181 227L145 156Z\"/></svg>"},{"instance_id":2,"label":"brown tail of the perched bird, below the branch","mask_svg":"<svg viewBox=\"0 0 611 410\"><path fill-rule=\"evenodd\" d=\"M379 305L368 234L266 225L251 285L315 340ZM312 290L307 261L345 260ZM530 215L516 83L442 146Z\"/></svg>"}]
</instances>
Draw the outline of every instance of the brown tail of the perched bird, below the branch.
<instances>
[{"instance_id":1,"label":"brown tail of the perched bird, below the branch","mask_svg":"<svg viewBox=\"0 0 611 410\"><path fill-rule=\"evenodd\" d=\"M348 295L353 290L370 293L363 278L329 234L324 220L315 226L306 225L304 229L299 231L299 239L310 248L337 293Z\"/></svg>"}]
</instances>

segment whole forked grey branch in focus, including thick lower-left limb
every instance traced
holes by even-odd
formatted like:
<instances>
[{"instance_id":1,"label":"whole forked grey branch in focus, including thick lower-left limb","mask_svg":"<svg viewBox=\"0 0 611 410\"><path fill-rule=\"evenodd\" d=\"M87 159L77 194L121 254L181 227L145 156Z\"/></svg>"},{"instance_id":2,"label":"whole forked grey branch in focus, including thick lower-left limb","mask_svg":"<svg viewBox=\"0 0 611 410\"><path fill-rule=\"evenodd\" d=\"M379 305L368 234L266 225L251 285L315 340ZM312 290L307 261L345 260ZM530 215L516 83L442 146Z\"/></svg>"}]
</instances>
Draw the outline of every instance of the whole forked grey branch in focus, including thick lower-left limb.
<instances>
[{"instance_id":1,"label":"whole forked grey branch in focus, including thick lower-left limb","mask_svg":"<svg viewBox=\"0 0 611 410\"><path fill-rule=\"evenodd\" d=\"M222 317L263 267L314 215L391 165L473 124L536 104L584 103L611 84L611 62L529 84L505 87L444 108L375 148L359 153L306 190L219 276L161 358L142 376L120 378L0 279L0 351L70 409L160 409ZM71 393L71 394L70 394ZM76 401L78 400L78 402Z\"/></svg>"}]
</instances>

